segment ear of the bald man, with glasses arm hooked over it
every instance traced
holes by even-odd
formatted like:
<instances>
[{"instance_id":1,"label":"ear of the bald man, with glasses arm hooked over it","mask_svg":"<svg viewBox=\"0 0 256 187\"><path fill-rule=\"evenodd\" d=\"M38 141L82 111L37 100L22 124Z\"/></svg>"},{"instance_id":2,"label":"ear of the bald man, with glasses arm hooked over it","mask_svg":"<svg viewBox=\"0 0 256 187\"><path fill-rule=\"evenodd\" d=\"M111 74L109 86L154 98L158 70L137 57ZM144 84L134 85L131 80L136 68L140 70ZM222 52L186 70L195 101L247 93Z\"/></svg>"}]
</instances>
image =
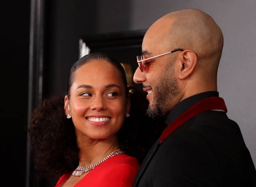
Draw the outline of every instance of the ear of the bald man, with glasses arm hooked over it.
<instances>
[{"instance_id":1,"label":"ear of the bald man, with glasses arm hooked over it","mask_svg":"<svg viewBox=\"0 0 256 187\"><path fill-rule=\"evenodd\" d=\"M186 49L178 56L179 60L179 79L185 79L190 76L197 63L197 56L194 51Z\"/></svg>"}]
</instances>

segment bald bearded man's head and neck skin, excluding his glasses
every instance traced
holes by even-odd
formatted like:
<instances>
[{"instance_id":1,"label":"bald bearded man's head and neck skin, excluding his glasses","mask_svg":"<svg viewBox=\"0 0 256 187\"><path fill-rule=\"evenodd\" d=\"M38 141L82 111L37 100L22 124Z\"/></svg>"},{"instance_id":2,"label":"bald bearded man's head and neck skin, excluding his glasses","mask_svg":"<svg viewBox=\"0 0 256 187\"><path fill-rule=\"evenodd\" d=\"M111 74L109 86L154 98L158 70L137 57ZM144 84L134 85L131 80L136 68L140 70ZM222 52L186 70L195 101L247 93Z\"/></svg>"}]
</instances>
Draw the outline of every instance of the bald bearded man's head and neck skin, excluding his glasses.
<instances>
[{"instance_id":1,"label":"bald bearded man's head and neck skin, excluding his glasses","mask_svg":"<svg viewBox=\"0 0 256 187\"><path fill-rule=\"evenodd\" d=\"M215 21L198 9L185 9L158 19L142 42L144 58L182 48L184 51L153 58L144 72L137 68L133 80L142 83L151 117L168 114L183 99L217 90L217 69L223 35Z\"/></svg>"}]
</instances>

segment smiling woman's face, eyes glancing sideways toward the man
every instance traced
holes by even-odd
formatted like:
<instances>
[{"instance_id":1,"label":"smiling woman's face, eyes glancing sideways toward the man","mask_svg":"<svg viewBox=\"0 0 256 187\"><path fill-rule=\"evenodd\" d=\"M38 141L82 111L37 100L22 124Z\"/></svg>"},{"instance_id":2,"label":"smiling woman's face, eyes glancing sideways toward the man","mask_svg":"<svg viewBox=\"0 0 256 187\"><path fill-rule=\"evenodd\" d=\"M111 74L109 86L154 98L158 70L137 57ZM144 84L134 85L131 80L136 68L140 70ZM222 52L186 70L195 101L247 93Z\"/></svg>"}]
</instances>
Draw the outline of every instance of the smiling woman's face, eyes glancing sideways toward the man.
<instances>
[{"instance_id":1,"label":"smiling woman's face, eyes glancing sideways toward the man","mask_svg":"<svg viewBox=\"0 0 256 187\"><path fill-rule=\"evenodd\" d=\"M114 65L106 60L91 60L74 72L70 98L65 96L65 111L72 116L77 136L115 136L129 110L125 85Z\"/></svg>"}]
</instances>

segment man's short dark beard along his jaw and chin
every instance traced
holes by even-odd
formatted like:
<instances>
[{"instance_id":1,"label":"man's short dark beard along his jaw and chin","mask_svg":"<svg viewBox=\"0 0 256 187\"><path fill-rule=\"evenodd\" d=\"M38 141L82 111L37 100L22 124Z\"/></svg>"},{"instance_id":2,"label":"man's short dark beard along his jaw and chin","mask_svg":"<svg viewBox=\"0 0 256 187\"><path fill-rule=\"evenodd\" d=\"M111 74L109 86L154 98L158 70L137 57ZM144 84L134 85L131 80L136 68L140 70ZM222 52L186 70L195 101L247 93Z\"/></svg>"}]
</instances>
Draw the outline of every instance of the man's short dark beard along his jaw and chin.
<instances>
[{"instance_id":1,"label":"man's short dark beard along his jaw and chin","mask_svg":"<svg viewBox=\"0 0 256 187\"><path fill-rule=\"evenodd\" d=\"M152 105L147 109L147 115L150 118L163 117L168 112L168 106L172 102L172 99L179 94L178 81L172 76L173 72L173 67L170 64L158 85L153 90L154 100Z\"/></svg>"}]
</instances>

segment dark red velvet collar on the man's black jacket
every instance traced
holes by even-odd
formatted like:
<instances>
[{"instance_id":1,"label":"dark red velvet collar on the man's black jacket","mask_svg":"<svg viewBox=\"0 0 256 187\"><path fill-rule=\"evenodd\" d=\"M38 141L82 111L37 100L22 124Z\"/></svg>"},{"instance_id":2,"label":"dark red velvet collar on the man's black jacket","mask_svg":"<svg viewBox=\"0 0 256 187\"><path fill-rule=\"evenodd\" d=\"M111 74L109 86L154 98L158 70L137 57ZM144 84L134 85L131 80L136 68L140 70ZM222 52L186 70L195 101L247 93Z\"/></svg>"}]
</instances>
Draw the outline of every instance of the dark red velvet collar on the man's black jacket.
<instances>
[{"instance_id":1,"label":"dark red velvet collar on the man's black jacket","mask_svg":"<svg viewBox=\"0 0 256 187\"><path fill-rule=\"evenodd\" d=\"M221 97L209 97L207 99L203 99L197 104L193 105L190 109L185 111L182 115L180 115L176 120L170 123L168 127L166 127L158 143L162 143L172 132L174 132L179 126L181 126L184 122L188 121L190 118L193 118L195 115L210 111L210 110L224 110L228 111L224 100Z\"/></svg>"}]
</instances>

